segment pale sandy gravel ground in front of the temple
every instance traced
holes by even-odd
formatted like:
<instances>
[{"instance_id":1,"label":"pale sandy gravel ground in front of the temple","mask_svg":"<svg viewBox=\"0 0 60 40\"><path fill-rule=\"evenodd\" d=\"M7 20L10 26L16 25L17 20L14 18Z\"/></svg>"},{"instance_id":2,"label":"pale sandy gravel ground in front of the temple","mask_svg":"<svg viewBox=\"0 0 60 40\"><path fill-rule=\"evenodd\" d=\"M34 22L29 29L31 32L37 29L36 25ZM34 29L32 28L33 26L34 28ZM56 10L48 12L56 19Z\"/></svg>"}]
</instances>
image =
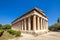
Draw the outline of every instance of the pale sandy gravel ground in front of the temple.
<instances>
[{"instance_id":1,"label":"pale sandy gravel ground in front of the temple","mask_svg":"<svg viewBox=\"0 0 60 40\"><path fill-rule=\"evenodd\" d=\"M11 40L60 40L60 32L48 32L46 34L38 36L22 33L22 37L18 37Z\"/></svg>"}]
</instances>

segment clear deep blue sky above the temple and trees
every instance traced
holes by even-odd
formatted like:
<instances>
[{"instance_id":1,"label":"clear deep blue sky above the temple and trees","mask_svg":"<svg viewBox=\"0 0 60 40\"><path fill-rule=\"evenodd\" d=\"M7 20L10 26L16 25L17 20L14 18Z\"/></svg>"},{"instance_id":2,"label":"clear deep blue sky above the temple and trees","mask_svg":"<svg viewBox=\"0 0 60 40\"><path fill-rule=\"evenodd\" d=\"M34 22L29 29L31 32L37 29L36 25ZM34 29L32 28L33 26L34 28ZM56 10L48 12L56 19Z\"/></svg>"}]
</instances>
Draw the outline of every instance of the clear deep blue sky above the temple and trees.
<instances>
[{"instance_id":1,"label":"clear deep blue sky above the temple and trees","mask_svg":"<svg viewBox=\"0 0 60 40\"><path fill-rule=\"evenodd\" d=\"M60 17L60 0L0 0L0 24L11 24L34 7L45 12L49 25Z\"/></svg>"}]
</instances>

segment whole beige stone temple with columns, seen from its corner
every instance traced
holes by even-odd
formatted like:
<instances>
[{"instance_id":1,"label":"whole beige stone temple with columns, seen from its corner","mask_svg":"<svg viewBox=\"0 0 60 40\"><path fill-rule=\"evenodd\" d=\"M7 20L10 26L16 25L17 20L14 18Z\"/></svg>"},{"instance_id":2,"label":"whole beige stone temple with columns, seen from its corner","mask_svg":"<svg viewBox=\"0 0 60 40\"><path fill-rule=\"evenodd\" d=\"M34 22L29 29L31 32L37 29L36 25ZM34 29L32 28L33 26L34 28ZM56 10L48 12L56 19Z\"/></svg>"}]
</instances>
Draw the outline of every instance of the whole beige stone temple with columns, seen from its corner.
<instances>
[{"instance_id":1,"label":"whole beige stone temple with columns, seen from its corner","mask_svg":"<svg viewBox=\"0 0 60 40\"><path fill-rule=\"evenodd\" d=\"M42 10L33 8L12 22L12 29L24 33L48 32L48 18Z\"/></svg>"}]
</instances>

